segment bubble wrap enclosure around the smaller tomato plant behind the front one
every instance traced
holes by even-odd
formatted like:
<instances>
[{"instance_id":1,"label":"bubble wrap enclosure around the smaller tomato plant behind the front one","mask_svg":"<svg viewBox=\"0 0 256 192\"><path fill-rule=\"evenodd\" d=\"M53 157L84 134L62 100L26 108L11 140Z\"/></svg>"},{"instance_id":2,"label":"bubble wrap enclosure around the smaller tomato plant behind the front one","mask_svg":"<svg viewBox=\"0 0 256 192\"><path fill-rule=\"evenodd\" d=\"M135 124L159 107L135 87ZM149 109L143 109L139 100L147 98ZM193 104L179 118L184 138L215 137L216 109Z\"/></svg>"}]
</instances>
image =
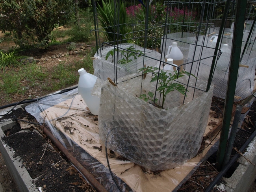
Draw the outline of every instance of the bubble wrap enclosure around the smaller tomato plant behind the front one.
<instances>
[{"instance_id":1,"label":"bubble wrap enclosure around the smaller tomato plant behind the front one","mask_svg":"<svg viewBox=\"0 0 256 192\"><path fill-rule=\"evenodd\" d=\"M120 44L119 47L122 49L129 48L130 46L133 46L135 50L140 50L144 54L144 48L137 46L135 44L130 43L123 43ZM159 54L156 51L145 49L145 56L141 55L137 59L134 59L133 56L131 56L129 59L132 59L130 63L126 64L117 64L120 59L123 59L124 57L121 55L121 53L115 52L115 58L113 58L111 55L108 57L108 60L106 60L106 55L110 50L113 50L114 47L103 47L103 50L98 50L99 53L101 53L102 56L95 54L95 59L93 60L93 68L94 68L94 75L100 79L107 80L115 79L115 74L117 74L117 79L126 76L128 74L136 73L138 69L142 68L144 64L147 64L147 66L159 66L159 61L161 54ZM120 49L121 50L121 49ZM153 59L149 58L152 57ZM156 60L157 59L157 60ZM117 71L116 71L117 69Z\"/></svg>"}]
</instances>

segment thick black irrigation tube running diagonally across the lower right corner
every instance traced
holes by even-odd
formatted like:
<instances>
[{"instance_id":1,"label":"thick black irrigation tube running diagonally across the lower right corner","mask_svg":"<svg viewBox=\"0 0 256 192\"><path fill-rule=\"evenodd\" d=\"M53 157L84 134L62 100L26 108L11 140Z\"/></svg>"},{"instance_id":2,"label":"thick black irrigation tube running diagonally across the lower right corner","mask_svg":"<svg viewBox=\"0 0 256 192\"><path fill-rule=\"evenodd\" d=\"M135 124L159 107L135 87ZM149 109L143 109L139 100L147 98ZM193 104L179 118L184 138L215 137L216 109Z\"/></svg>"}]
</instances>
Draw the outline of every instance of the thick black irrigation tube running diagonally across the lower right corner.
<instances>
[{"instance_id":1,"label":"thick black irrigation tube running diagonally across the lower right corner","mask_svg":"<svg viewBox=\"0 0 256 192\"><path fill-rule=\"evenodd\" d=\"M254 128L256 125L254 126ZM243 146L240 148L239 151L241 153L247 148L247 146L250 144L250 142L254 139L256 136L256 130L252 133L252 135L249 137L249 139L243 144ZM236 153L234 157L223 167L221 172L213 179L213 181L210 183L210 185L206 188L204 192L210 192L213 187L219 182L219 180L223 177L223 175L229 170L229 168L236 162L236 160L240 157L240 154Z\"/></svg>"}]
</instances>

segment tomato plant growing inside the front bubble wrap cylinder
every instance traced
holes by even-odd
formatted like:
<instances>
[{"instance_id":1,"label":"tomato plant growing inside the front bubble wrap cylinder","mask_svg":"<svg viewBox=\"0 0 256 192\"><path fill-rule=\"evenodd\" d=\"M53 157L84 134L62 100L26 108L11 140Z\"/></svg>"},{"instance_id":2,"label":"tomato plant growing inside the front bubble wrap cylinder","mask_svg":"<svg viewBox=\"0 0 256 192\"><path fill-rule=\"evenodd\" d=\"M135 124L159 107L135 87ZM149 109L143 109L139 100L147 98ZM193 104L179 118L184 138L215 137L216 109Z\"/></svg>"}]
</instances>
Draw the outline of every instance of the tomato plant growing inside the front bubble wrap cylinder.
<instances>
[{"instance_id":1,"label":"tomato plant growing inside the front bubble wrap cylinder","mask_svg":"<svg viewBox=\"0 0 256 192\"><path fill-rule=\"evenodd\" d=\"M180 75L178 76L178 72L175 71L174 74L171 74L167 71L164 70L160 70L159 74L158 74L158 68L157 67L143 67L140 68L139 71L143 71L143 74L148 73L148 72L152 72L153 74L153 78L151 79L151 82L154 81L158 81L159 83L159 87L157 89L157 91L160 93L160 97L162 98L162 106L161 108L163 109L163 105L165 103L165 98L167 96L168 93L170 93L171 91L177 90L178 92L180 92L181 94L185 95L186 93L186 89L183 85L181 85L180 83L173 83L174 79L177 79L178 77L182 77L184 76L184 72L180 72ZM141 95L140 98L144 99L145 101L151 100L154 101L153 97L154 94L152 94L151 92L148 92L148 97L145 96L145 94ZM155 100L156 102L156 100Z\"/></svg>"}]
</instances>

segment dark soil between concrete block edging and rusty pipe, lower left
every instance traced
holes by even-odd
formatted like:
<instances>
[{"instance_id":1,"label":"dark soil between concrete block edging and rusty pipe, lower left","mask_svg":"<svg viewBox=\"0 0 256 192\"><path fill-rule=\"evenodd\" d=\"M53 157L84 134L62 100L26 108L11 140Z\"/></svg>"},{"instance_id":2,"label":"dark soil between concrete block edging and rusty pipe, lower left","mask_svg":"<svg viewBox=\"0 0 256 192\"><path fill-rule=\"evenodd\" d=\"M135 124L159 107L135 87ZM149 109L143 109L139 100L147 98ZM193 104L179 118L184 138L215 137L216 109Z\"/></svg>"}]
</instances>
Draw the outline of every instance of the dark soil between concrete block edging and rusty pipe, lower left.
<instances>
[{"instance_id":1,"label":"dark soil between concrete block edging and rusty pipe, lower left","mask_svg":"<svg viewBox=\"0 0 256 192\"><path fill-rule=\"evenodd\" d=\"M14 116L34 120L33 116L22 109L13 110L5 118ZM35 179L35 186L43 187L45 192L94 191L76 169L59 155L59 151L54 150L37 131L27 130L11 134L12 131L10 129L9 136L2 140L15 151L14 157L20 157L21 167L26 168L32 179ZM39 178L36 179L37 177Z\"/></svg>"}]
</instances>

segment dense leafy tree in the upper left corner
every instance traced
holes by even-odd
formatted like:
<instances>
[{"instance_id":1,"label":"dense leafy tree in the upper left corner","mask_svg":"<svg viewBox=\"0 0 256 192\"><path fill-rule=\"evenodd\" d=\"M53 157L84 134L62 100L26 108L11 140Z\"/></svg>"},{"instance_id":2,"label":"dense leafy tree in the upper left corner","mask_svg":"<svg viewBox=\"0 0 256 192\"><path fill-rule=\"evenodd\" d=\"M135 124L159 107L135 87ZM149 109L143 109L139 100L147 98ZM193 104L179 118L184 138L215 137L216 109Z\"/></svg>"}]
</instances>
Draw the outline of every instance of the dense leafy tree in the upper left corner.
<instances>
[{"instance_id":1,"label":"dense leafy tree in the upper left corner","mask_svg":"<svg viewBox=\"0 0 256 192\"><path fill-rule=\"evenodd\" d=\"M74 6L72 0L0 0L0 30L13 33L20 47L32 41L46 48L56 24L74 16Z\"/></svg>"}]
</instances>

